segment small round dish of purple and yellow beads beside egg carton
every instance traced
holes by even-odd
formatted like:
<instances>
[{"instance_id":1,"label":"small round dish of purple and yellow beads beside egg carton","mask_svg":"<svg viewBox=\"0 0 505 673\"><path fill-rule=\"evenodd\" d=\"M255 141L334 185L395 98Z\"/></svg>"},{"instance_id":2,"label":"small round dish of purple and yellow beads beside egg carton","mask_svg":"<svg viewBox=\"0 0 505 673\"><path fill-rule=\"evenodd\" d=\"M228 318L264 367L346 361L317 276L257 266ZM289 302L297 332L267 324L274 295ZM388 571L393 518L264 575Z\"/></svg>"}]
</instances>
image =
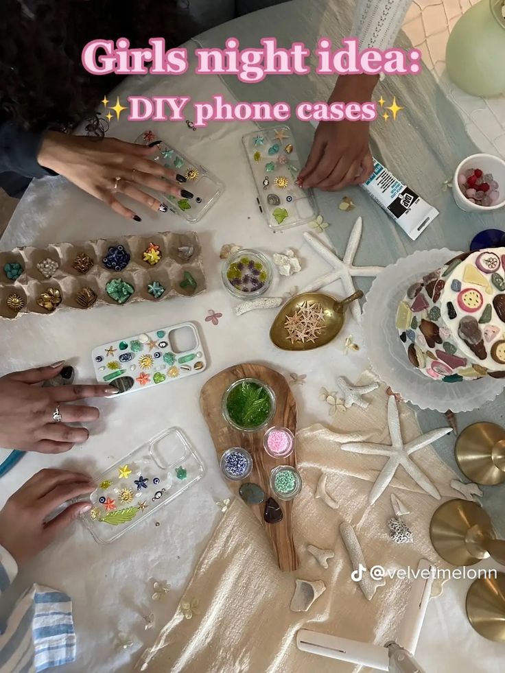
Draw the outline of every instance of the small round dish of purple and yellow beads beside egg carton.
<instances>
[{"instance_id":1,"label":"small round dish of purple and yellow beads beside egg carton","mask_svg":"<svg viewBox=\"0 0 505 673\"><path fill-rule=\"evenodd\" d=\"M230 294L242 301L256 299L272 284L272 264L257 250L238 250L224 261L222 281Z\"/></svg>"}]
</instances>

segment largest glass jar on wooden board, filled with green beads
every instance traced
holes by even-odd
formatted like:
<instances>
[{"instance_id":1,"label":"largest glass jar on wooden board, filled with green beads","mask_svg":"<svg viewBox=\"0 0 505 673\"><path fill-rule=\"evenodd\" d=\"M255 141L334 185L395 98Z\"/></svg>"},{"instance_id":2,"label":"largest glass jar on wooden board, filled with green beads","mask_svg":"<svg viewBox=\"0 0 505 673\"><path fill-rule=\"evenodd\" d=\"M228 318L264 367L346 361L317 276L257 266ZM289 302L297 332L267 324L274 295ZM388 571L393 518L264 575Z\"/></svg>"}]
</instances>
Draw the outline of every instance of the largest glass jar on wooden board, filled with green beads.
<instances>
[{"instance_id":1,"label":"largest glass jar on wooden board, filled with green beads","mask_svg":"<svg viewBox=\"0 0 505 673\"><path fill-rule=\"evenodd\" d=\"M239 379L222 397L226 423L242 432L258 432L267 427L275 413L275 393L258 379Z\"/></svg>"}]
</instances>

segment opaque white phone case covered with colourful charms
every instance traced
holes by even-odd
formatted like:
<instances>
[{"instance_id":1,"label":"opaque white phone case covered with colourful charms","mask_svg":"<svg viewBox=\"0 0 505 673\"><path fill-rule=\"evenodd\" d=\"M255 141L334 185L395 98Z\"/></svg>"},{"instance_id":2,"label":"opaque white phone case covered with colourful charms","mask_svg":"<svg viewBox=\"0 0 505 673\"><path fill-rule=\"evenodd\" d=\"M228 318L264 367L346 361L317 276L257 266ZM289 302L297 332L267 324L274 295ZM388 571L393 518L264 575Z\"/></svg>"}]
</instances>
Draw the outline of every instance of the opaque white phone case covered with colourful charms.
<instances>
[{"instance_id":1,"label":"opaque white phone case covered with colourful charms","mask_svg":"<svg viewBox=\"0 0 505 673\"><path fill-rule=\"evenodd\" d=\"M172 334L179 329L191 331L192 349L176 350ZM119 394L160 386L207 368L202 340L193 322L108 341L93 349L91 357L97 381L117 388Z\"/></svg>"}]
</instances>

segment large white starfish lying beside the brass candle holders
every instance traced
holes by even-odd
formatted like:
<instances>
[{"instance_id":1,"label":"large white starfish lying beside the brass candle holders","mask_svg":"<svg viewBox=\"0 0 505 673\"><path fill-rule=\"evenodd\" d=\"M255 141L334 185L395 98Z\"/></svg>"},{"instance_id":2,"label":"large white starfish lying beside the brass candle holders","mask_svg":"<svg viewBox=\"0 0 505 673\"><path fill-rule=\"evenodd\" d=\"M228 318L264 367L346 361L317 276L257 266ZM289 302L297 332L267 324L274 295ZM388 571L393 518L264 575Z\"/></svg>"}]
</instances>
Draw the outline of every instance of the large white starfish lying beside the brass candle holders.
<instances>
[{"instance_id":1,"label":"large white starfish lying beside the brass candle holders","mask_svg":"<svg viewBox=\"0 0 505 673\"><path fill-rule=\"evenodd\" d=\"M368 456L386 456L388 458L388 462L386 462L382 468L381 473L373 485L370 495L368 495L368 502L373 504L377 498L384 493L386 486L388 486L392 477L395 476L395 472L399 465L403 467L406 473L410 475L414 482L419 484L426 493L429 493L432 497L439 500L441 497L440 493L438 493L436 487L430 482L425 473L410 460L410 454L418 449L426 447L444 435L449 434L449 432L452 432L452 428L439 427L436 430L430 430L430 432L426 432L421 435L421 437L417 437L411 442L404 444L401 436L397 401L392 396L388 398L388 428L391 438L391 446L385 444L372 444L371 442L349 442L348 444L342 444L342 449L344 451L364 453Z\"/></svg>"}]
</instances>

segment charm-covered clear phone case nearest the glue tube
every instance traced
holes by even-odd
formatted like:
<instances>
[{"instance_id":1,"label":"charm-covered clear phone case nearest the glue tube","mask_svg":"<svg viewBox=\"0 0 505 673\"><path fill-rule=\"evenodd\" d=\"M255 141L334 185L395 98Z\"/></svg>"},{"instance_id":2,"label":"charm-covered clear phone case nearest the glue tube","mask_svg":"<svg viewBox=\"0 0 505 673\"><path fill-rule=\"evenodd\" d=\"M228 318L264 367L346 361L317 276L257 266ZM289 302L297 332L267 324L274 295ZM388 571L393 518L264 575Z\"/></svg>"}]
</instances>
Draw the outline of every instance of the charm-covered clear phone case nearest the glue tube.
<instances>
[{"instance_id":1,"label":"charm-covered clear phone case nearest the glue tube","mask_svg":"<svg viewBox=\"0 0 505 673\"><path fill-rule=\"evenodd\" d=\"M258 205L268 226L282 231L316 219L312 191L295 180L301 165L289 126L258 130L242 138L258 190Z\"/></svg>"}]
</instances>

